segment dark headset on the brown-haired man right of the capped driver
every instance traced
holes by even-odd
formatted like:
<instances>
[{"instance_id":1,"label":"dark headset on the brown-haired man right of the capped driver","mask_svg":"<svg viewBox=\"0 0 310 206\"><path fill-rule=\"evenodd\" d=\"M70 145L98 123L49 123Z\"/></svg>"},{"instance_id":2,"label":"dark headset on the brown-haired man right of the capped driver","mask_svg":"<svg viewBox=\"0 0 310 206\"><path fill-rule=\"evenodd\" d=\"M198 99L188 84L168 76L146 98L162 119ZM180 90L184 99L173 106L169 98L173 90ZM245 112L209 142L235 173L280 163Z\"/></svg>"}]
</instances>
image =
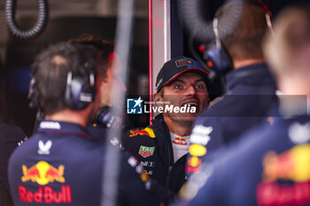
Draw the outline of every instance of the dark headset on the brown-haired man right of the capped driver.
<instances>
[{"instance_id":1,"label":"dark headset on the brown-haired man right of the capped driver","mask_svg":"<svg viewBox=\"0 0 310 206\"><path fill-rule=\"evenodd\" d=\"M272 14L271 11L268 10L267 5L260 0L255 0L253 4L259 5L264 9L267 27L270 33L275 35L271 23ZM203 52L203 58L205 59L206 65L217 75L221 75L233 69L233 61L228 50L221 43L218 17L213 19L213 34L215 36L214 41L209 43L207 47L202 46L200 51Z\"/></svg>"}]
</instances>

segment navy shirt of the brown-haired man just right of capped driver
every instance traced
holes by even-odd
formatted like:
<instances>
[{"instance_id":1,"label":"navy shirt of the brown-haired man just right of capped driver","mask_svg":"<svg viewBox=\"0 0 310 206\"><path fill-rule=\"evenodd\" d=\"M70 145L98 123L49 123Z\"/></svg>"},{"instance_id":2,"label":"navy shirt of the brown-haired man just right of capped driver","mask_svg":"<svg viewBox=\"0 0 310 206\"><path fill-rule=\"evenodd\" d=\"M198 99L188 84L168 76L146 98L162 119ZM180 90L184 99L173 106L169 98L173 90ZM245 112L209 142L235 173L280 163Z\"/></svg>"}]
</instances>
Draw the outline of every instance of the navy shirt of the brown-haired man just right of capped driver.
<instances>
[{"instance_id":1,"label":"navy shirt of the brown-haired man just right of capped driver","mask_svg":"<svg viewBox=\"0 0 310 206\"><path fill-rule=\"evenodd\" d=\"M188 174L197 172L201 162L213 151L236 141L252 126L266 121L267 112L277 102L275 80L265 63L238 68L229 72L226 80L225 95L202 111L194 122L190 151L203 150L199 147L206 150L199 154L190 152L186 166Z\"/></svg>"}]
</instances>

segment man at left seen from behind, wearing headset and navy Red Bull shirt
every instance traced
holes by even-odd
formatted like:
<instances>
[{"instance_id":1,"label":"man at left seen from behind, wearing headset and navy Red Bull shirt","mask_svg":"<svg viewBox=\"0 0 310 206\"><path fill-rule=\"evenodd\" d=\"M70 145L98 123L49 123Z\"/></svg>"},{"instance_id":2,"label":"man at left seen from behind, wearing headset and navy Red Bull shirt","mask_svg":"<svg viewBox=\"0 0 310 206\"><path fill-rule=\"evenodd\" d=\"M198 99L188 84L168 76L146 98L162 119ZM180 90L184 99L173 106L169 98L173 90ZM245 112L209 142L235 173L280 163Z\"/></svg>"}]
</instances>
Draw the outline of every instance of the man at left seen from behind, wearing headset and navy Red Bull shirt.
<instances>
[{"instance_id":1,"label":"man at left seen from behind, wearing headset and navy Red Bull shirt","mask_svg":"<svg viewBox=\"0 0 310 206\"><path fill-rule=\"evenodd\" d=\"M33 101L45 117L10 159L15 205L100 205L105 147L86 129L101 104L105 74L100 60L95 48L66 42L35 58ZM146 200L159 205L146 190L148 176L136 159L124 156L120 161L117 205L143 205Z\"/></svg>"}]
</instances>

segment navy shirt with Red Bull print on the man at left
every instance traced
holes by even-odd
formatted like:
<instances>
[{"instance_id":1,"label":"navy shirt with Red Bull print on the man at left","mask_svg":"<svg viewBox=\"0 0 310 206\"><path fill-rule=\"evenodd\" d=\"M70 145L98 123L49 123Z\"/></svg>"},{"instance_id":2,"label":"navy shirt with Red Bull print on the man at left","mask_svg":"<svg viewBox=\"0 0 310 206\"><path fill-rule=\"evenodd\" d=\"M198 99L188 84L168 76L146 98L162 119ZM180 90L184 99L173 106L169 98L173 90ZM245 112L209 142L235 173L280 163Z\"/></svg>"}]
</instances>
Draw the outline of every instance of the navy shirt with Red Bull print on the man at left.
<instances>
[{"instance_id":1,"label":"navy shirt with Red Bull print on the man at left","mask_svg":"<svg viewBox=\"0 0 310 206\"><path fill-rule=\"evenodd\" d=\"M104 145L92 140L85 128L43 120L37 133L10 158L15 205L100 205L104 156ZM156 195L146 191L128 164L128 156L120 161L119 205L144 205L148 198L158 205Z\"/></svg>"}]
</instances>

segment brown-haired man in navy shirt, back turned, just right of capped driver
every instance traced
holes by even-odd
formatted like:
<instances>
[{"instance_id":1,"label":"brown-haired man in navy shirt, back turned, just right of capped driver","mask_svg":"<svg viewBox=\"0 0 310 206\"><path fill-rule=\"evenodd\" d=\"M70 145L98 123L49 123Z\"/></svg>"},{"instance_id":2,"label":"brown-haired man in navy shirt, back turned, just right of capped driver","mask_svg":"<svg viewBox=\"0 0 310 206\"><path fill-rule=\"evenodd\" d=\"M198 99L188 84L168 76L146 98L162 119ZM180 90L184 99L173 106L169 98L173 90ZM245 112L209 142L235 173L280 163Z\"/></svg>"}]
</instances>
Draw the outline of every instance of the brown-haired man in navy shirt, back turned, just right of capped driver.
<instances>
[{"instance_id":1,"label":"brown-haired man in navy shirt, back turned, just right of capped driver","mask_svg":"<svg viewBox=\"0 0 310 206\"><path fill-rule=\"evenodd\" d=\"M219 13L225 18L231 4L223 5ZM199 170L199 163L207 153L229 144L252 126L267 119L267 111L275 103L275 81L262 55L262 36L267 32L266 11L260 4L244 4L241 18L231 34L221 42L233 61L233 71L226 75L225 95L217 103L202 111L194 122L190 137L190 159L187 172ZM221 32L221 30L220 30ZM221 33L220 33L221 34ZM221 35L220 35L221 36Z\"/></svg>"}]
</instances>

